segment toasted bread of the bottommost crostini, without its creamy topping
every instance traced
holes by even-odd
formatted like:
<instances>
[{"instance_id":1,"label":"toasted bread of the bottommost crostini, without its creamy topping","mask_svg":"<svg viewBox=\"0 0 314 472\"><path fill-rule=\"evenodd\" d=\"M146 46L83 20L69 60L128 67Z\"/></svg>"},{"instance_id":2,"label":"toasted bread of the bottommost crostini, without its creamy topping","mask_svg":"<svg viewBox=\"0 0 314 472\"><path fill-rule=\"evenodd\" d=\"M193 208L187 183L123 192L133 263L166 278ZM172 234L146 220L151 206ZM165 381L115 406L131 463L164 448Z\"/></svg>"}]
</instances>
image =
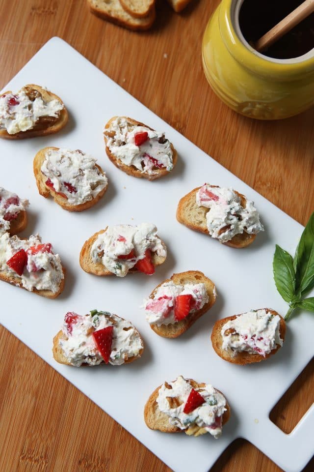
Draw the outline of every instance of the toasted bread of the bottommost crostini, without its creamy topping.
<instances>
[{"instance_id":1,"label":"toasted bread of the bottommost crostini, without its creamy topping","mask_svg":"<svg viewBox=\"0 0 314 472\"><path fill-rule=\"evenodd\" d=\"M201 388L205 386L205 383L197 383L192 379L188 379L188 380L193 388ZM187 431L188 428L184 430L170 424L169 417L166 415L166 413L162 413L159 410L158 403L156 400L158 397L158 391L160 387L161 385L159 385L156 388L156 390L153 391L153 393L147 400L146 405L144 407L144 420L145 420L146 425L150 429L158 430L158 431L161 431L162 433L183 433L183 431L184 432ZM227 421L230 418L231 410L230 410L230 406L228 402L226 403L226 409L227 410L224 412L222 416L223 425L227 423Z\"/></svg>"}]
</instances>

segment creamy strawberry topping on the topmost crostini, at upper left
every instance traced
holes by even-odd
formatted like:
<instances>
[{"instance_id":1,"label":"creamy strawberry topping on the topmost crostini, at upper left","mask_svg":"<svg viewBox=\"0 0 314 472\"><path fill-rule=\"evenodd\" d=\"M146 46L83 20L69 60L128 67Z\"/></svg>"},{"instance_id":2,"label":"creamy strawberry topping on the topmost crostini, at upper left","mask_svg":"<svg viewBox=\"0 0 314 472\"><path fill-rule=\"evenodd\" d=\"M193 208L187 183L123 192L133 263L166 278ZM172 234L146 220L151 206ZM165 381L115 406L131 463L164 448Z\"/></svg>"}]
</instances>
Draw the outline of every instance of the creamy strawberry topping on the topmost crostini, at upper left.
<instances>
[{"instance_id":1,"label":"creamy strawberry topping on the topmost crostini, at upper left","mask_svg":"<svg viewBox=\"0 0 314 472\"><path fill-rule=\"evenodd\" d=\"M57 121L63 108L60 100L46 102L38 90L23 87L15 95L0 96L0 129L16 134L37 125L48 127Z\"/></svg>"}]
</instances>

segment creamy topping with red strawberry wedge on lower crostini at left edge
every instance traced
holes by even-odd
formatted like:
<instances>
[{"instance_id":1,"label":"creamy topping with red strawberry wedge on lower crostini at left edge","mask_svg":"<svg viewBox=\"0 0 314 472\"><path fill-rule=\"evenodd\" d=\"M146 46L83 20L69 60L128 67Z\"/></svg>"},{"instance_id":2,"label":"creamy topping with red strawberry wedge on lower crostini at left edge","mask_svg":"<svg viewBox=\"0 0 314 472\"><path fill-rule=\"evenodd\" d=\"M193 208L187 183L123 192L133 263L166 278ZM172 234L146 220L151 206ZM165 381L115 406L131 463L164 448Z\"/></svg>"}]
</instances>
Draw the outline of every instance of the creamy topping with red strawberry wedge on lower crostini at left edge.
<instances>
[{"instance_id":1,"label":"creamy topping with red strawberry wedge on lower crostini at left edge","mask_svg":"<svg viewBox=\"0 0 314 472\"><path fill-rule=\"evenodd\" d=\"M53 254L50 243L42 244L38 235L29 239L0 236L0 270L21 278L21 285L30 292L33 289L51 290L55 293L64 278L60 257Z\"/></svg>"}]
</instances>

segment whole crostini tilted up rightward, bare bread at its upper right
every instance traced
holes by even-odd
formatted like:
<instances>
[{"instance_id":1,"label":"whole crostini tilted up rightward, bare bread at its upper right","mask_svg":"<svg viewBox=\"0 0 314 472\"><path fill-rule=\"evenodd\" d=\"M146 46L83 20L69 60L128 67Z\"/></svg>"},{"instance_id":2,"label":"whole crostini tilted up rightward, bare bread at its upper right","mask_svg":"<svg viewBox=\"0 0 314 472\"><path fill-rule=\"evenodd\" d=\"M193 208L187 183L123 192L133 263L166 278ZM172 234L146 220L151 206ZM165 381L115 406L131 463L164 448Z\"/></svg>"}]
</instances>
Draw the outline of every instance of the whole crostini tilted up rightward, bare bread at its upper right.
<instances>
[{"instance_id":1,"label":"whole crostini tilted up rightward, bare bread at its upper right","mask_svg":"<svg viewBox=\"0 0 314 472\"><path fill-rule=\"evenodd\" d=\"M165 338L181 336L214 304L216 289L203 272L188 270L173 274L144 300L146 320Z\"/></svg>"}]
</instances>

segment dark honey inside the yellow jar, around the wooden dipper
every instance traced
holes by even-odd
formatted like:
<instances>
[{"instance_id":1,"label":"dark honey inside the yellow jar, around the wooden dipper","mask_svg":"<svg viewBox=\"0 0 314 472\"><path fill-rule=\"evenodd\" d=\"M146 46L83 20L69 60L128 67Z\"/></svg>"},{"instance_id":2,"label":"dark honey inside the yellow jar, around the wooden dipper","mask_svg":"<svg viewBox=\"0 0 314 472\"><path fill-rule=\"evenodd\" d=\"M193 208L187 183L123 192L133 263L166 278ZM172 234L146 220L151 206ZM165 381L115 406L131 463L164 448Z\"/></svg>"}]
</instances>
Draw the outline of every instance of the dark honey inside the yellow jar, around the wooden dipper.
<instances>
[{"instance_id":1,"label":"dark honey inside the yellow jar, around the wooden dipper","mask_svg":"<svg viewBox=\"0 0 314 472\"><path fill-rule=\"evenodd\" d=\"M301 3L303 0L244 0L239 13L244 38L254 44ZM314 13L311 13L262 54L275 59L291 59L303 56L313 48Z\"/></svg>"}]
</instances>

